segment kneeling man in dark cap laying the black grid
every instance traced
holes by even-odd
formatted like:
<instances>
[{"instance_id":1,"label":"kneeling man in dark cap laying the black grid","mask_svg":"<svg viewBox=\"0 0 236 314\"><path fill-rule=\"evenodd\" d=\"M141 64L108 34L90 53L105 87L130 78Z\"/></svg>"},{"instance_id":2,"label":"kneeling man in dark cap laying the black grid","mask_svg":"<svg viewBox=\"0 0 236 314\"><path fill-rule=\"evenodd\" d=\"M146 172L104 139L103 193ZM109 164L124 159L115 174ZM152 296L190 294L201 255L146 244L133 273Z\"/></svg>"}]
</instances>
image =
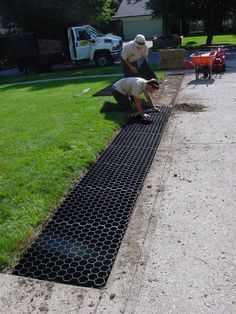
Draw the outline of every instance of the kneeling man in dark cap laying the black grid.
<instances>
[{"instance_id":1,"label":"kneeling man in dark cap laying the black grid","mask_svg":"<svg viewBox=\"0 0 236 314\"><path fill-rule=\"evenodd\" d=\"M112 86L112 94L117 104L105 101L100 112L132 110L131 97L134 98L134 104L137 112L142 118L149 118L149 115L143 112L141 106L140 95L143 93L152 108L159 111L151 98L151 93L159 89L159 81L157 79L145 80L140 77L126 77L117 81Z\"/></svg>"}]
</instances>

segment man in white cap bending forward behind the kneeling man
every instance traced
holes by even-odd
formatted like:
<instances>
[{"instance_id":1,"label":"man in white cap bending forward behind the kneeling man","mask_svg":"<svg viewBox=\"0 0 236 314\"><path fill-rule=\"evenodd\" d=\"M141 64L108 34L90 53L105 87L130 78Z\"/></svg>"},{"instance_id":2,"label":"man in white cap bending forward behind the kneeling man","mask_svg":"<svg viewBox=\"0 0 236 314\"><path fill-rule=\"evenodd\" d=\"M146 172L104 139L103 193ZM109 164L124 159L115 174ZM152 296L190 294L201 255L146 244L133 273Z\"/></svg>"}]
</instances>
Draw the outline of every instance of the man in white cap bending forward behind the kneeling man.
<instances>
[{"instance_id":1,"label":"man in white cap bending forward behind the kneeling man","mask_svg":"<svg viewBox=\"0 0 236 314\"><path fill-rule=\"evenodd\" d=\"M137 76L139 68L138 60L144 58L147 62L147 56L148 47L145 37L138 34L134 40L124 46L121 52L124 77Z\"/></svg>"}]
</instances>

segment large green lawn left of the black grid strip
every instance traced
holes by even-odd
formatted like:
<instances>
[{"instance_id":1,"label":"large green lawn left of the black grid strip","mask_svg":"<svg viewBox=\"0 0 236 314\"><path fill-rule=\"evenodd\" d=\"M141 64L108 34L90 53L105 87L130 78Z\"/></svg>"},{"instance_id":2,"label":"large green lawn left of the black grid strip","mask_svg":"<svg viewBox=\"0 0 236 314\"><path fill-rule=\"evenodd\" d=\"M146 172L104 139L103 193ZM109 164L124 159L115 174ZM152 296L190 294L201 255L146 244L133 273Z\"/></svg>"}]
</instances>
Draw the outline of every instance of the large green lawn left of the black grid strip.
<instances>
[{"instance_id":1,"label":"large green lawn left of the black grid strip","mask_svg":"<svg viewBox=\"0 0 236 314\"><path fill-rule=\"evenodd\" d=\"M126 121L125 113L100 114L105 97L92 97L115 80L0 89L0 268L11 263Z\"/></svg>"}]
</instances>

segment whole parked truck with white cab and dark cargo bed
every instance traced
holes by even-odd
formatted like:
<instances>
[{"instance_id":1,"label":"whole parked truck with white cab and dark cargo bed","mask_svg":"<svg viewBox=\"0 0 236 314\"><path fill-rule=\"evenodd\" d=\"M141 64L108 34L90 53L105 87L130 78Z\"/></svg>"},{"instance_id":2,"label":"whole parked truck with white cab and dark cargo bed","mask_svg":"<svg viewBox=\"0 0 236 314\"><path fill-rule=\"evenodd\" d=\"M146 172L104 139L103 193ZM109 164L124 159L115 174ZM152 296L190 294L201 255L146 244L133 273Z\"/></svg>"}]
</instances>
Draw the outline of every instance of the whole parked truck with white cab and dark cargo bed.
<instances>
[{"instance_id":1,"label":"whole parked truck with white cab and dark cargo bed","mask_svg":"<svg viewBox=\"0 0 236 314\"><path fill-rule=\"evenodd\" d=\"M105 35L90 25L69 27L63 38L23 33L0 37L0 68L15 66L34 74L58 63L112 65L122 51L119 36Z\"/></svg>"}]
</instances>

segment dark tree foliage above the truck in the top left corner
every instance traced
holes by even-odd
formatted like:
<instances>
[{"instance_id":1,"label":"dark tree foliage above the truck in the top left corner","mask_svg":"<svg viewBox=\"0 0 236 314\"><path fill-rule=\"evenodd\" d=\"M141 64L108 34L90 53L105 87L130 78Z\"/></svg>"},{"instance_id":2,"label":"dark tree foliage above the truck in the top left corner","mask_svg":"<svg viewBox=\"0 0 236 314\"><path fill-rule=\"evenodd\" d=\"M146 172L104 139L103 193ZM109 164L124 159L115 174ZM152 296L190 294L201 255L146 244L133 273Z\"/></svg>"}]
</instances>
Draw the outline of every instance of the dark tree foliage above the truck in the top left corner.
<instances>
[{"instance_id":1,"label":"dark tree foliage above the truck in the top left corner","mask_svg":"<svg viewBox=\"0 0 236 314\"><path fill-rule=\"evenodd\" d=\"M111 19L112 0L0 0L6 27L18 31L61 30L68 25Z\"/></svg>"}]
</instances>

